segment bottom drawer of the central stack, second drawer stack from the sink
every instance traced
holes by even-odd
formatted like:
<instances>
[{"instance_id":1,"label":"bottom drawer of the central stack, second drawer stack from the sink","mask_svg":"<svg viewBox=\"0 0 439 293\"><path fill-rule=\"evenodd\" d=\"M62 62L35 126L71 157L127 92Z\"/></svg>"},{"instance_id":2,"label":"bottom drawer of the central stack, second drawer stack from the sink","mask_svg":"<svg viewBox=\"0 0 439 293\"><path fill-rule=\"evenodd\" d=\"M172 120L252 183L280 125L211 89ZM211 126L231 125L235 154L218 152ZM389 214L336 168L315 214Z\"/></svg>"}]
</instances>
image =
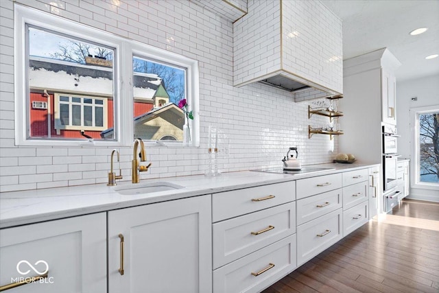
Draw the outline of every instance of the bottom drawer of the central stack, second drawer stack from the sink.
<instances>
[{"instance_id":1,"label":"bottom drawer of the central stack, second drawer stack from the sink","mask_svg":"<svg viewBox=\"0 0 439 293\"><path fill-rule=\"evenodd\" d=\"M300 266L342 239L342 209L297 227L297 265Z\"/></svg>"}]
</instances>

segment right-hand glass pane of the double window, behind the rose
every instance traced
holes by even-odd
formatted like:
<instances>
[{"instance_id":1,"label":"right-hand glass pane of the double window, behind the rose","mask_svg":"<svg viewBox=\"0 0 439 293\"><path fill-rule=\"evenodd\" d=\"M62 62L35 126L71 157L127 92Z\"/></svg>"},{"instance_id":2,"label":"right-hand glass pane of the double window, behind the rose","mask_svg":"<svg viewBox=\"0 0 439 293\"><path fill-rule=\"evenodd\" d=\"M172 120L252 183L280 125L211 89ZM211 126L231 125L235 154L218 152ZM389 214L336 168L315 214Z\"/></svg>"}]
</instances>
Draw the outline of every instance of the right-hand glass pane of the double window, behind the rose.
<instances>
[{"instance_id":1,"label":"right-hand glass pane of the double window, behind the rose","mask_svg":"<svg viewBox=\"0 0 439 293\"><path fill-rule=\"evenodd\" d=\"M134 56L134 138L183 141L185 113L178 107L186 94L186 69ZM174 106L169 106L174 104Z\"/></svg>"}]
</instances>

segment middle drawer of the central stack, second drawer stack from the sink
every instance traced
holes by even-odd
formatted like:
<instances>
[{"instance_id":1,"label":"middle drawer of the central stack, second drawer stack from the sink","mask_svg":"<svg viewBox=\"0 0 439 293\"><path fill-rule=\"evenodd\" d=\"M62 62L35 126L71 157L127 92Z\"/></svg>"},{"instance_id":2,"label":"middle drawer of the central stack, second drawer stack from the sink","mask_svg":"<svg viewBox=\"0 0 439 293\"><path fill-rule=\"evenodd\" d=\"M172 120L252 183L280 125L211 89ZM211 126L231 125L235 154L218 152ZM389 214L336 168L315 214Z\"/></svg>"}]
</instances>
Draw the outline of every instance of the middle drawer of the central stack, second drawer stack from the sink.
<instances>
[{"instance_id":1,"label":"middle drawer of the central stack, second drawer stack from the sink","mask_svg":"<svg viewBox=\"0 0 439 293\"><path fill-rule=\"evenodd\" d=\"M342 189L297 201L297 224L301 225L342 207Z\"/></svg>"}]
</instances>

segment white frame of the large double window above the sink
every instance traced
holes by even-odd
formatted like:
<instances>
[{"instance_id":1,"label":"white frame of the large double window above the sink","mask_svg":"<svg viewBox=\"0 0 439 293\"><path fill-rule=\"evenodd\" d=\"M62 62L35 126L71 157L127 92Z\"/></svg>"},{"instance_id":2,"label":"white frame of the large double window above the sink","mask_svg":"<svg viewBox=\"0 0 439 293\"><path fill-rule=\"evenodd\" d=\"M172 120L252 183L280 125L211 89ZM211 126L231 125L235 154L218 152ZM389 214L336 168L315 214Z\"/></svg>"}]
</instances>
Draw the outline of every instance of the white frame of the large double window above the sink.
<instances>
[{"instance_id":1,"label":"white frame of the large double window above the sink","mask_svg":"<svg viewBox=\"0 0 439 293\"><path fill-rule=\"evenodd\" d=\"M29 86L27 82L27 34L26 26L39 27L51 30L65 36L91 43L102 44L115 48L114 62L114 129L115 137L112 140L89 139L47 139L27 137L29 123L27 111L29 110ZM92 41L93 40L93 41ZM134 99L132 93L132 57L143 56L161 62L185 67L187 69L187 99L193 110L194 119L190 121L193 137L191 147L200 146L200 116L199 116L199 73L198 61L176 54L165 49L152 47L136 40L116 36L110 32L99 30L82 23L77 23L60 16L42 12L14 3L14 114L15 114L15 144L29 146L130 146L134 134ZM82 93L82 95L88 95ZM91 93L93 95L93 93ZM23 98L24 97L24 98ZM146 145L167 145L145 141ZM182 141L169 143L169 145L185 146Z\"/></svg>"}]
</instances>

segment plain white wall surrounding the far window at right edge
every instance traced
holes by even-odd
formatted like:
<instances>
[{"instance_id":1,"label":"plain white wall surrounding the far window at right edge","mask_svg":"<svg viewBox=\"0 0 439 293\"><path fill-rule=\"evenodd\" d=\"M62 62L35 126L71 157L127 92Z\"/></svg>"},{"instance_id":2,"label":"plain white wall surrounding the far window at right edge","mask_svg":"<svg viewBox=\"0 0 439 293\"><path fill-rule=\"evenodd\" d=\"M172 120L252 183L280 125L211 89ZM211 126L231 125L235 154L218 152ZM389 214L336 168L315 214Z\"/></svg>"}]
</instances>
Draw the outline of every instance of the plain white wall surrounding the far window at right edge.
<instances>
[{"instance_id":1,"label":"plain white wall surrounding the far window at right edge","mask_svg":"<svg viewBox=\"0 0 439 293\"><path fill-rule=\"evenodd\" d=\"M412 97L418 97L418 100L412 101ZM396 124L401 135L398 152L403 158L412 159L410 109L434 105L439 105L439 75L396 84ZM439 202L439 190L411 188L409 198Z\"/></svg>"}]
</instances>

